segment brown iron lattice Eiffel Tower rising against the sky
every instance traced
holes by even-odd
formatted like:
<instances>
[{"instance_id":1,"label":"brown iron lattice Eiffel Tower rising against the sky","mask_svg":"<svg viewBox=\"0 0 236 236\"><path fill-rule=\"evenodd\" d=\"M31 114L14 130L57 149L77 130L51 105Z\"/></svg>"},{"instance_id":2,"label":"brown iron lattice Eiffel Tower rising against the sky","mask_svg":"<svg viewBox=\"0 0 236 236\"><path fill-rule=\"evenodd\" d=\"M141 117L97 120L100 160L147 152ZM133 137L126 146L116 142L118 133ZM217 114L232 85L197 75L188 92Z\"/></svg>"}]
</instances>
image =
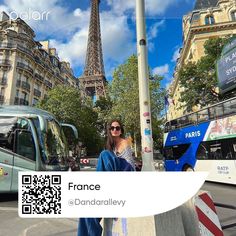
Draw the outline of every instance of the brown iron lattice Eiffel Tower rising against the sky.
<instances>
[{"instance_id":1,"label":"brown iron lattice Eiffel Tower rising against the sky","mask_svg":"<svg viewBox=\"0 0 236 236\"><path fill-rule=\"evenodd\" d=\"M91 0L91 15L87 54L83 75L79 78L82 92L96 100L105 97L106 78L104 72L102 42L99 19L100 0Z\"/></svg>"}]
</instances>

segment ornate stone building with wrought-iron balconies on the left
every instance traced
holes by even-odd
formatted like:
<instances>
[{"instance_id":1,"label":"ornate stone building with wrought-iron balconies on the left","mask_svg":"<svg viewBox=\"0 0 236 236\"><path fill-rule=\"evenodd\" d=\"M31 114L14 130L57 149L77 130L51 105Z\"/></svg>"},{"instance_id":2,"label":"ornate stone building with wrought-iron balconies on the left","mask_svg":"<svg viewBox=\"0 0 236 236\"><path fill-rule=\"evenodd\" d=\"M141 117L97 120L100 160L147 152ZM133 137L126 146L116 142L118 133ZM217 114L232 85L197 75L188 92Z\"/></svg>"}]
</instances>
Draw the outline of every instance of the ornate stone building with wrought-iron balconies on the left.
<instances>
[{"instance_id":1,"label":"ornate stone building with wrought-iron balconies on the left","mask_svg":"<svg viewBox=\"0 0 236 236\"><path fill-rule=\"evenodd\" d=\"M0 104L35 105L56 85L77 87L68 62L20 18L0 13Z\"/></svg>"}]
</instances>

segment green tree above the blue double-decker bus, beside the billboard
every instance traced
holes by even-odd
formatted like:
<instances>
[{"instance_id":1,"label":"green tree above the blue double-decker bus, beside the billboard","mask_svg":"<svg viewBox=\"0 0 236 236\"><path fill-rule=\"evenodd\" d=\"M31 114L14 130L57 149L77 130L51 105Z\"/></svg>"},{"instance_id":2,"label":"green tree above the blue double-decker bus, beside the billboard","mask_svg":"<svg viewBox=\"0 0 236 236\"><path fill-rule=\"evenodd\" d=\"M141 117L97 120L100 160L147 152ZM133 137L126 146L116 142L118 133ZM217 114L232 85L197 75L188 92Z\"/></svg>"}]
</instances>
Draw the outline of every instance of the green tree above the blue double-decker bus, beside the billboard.
<instances>
[{"instance_id":1,"label":"green tree above the blue double-decker bus, beside the billboard","mask_svg":"<svg viewBox=\"0 0 236 236\"><path fill-rule=\"evenodd\" d=\"M229 38L212 38L205 42L205 56L197 62L189 62L179 72L181 92L180 102L187 111L192 111L195 105L204 107L219 101L216 92L216 60L220 57L224 45Z\"/></svg>"}]
</instances>

